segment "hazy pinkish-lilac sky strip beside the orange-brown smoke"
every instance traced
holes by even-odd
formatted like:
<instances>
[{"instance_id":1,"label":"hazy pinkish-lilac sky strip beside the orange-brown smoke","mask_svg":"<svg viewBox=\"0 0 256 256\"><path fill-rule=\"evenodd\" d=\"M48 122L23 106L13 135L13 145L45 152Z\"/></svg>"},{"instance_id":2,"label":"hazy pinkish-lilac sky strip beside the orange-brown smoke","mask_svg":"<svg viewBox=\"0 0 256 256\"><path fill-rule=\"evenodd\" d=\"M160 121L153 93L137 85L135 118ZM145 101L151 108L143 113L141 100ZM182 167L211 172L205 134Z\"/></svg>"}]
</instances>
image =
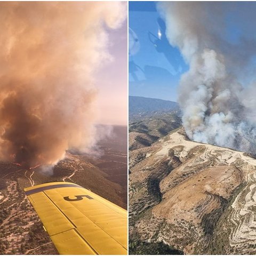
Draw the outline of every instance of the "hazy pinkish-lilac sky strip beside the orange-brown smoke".
<instances>
[{"instance_id":1,"label":"hazy pinkish-lilac sky strip beside the orange-brown smoke","mask_svg":"<svg viewBox=\"0 0 256 256\"><path fill-rule=\"evenodd\" d=\"M99 88L99 122L127 125L127 19L121 28L109 30L108 50L113 60L95 76Z\"/></svg>"}]
</instances>

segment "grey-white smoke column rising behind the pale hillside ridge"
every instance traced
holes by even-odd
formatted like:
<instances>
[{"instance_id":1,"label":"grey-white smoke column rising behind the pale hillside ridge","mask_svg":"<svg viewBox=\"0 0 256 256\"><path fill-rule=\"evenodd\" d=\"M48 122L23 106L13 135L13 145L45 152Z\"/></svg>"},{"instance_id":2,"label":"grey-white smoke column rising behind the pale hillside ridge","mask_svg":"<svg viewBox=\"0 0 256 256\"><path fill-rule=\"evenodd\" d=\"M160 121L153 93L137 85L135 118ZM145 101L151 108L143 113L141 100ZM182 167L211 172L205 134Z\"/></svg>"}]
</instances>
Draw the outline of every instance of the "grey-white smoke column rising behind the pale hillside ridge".
<instances>
[{"instance_id":1,"label":"grey-white smoke column rising behind the pale hillside ridge","mask_svg":"<svg viewBox=\"0 0 256 256\"><path fill-rule=\"evenodd\" d=\"M254 153L256 5L241 5L162 2L158 10L166 21L170 44L179 48L189 65L179 86L188 137Z\"/></svg>"}]
</instances>

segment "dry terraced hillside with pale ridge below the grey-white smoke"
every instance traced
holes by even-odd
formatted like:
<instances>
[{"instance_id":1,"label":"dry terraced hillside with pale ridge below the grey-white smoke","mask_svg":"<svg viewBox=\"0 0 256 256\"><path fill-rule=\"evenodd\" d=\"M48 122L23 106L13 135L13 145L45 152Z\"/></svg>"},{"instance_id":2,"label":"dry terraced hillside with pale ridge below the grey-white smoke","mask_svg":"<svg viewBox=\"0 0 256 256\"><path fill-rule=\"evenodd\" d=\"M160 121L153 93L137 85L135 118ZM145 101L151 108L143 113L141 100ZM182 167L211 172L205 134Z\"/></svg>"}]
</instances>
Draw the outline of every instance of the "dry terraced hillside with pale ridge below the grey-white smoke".
<instances>
[{"instance_id":1,"label":"dry terraced hillside with pale ridge below the grey-white smoke","mask_svg":"<svg viewBox=\"0 0 256 256\"><path fill-rule=\"evenodd\" d=\"M182 129L129 157L132 241L185 254L256 253L256 159L190 141Z\"/></svg>"}]
</instances>

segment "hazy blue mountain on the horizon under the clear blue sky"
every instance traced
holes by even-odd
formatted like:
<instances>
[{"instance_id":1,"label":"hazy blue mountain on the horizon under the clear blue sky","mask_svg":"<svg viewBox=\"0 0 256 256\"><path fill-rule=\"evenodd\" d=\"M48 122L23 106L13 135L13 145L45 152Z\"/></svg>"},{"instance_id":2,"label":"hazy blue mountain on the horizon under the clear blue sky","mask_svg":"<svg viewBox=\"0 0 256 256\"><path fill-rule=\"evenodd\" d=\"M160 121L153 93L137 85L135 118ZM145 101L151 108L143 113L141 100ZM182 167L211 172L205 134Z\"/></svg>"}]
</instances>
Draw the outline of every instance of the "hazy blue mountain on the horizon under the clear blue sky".
<instances>
[{"instance_id":1,"label":"hazy blue mountain on the horizon under the clear blue sky","mask_svg":"<svg viewBox=\"0 0 256 256\"><path fill-rule=\"evenodd\" d=\"M157 111L166 112L170 110L180 110L179 104L169 100L129 96L129 116L134 114L154 113Z\"/></svg>"}]
</instances>

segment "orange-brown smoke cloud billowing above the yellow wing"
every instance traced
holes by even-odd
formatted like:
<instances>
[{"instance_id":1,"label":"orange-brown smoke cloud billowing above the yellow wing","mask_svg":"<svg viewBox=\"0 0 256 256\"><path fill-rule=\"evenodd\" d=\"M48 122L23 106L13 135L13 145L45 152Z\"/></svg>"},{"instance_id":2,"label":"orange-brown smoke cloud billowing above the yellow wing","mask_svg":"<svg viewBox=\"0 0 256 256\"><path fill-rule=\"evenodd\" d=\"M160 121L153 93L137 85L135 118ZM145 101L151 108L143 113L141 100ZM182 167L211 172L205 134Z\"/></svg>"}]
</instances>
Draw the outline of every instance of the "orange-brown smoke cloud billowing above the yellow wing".
<instances>
[{"instance_id":1,"label":"orange-brown smoke cloud billowing above the yellow wing","mask_svg":"<svg viewBox=\"0 0 256 256\"><path fill-rule=\"evenodd\" d=\"M94 71L111 59L118 2L2 2L0 158L53 165L94 141Z\"/></svg>"}]
</instances>

